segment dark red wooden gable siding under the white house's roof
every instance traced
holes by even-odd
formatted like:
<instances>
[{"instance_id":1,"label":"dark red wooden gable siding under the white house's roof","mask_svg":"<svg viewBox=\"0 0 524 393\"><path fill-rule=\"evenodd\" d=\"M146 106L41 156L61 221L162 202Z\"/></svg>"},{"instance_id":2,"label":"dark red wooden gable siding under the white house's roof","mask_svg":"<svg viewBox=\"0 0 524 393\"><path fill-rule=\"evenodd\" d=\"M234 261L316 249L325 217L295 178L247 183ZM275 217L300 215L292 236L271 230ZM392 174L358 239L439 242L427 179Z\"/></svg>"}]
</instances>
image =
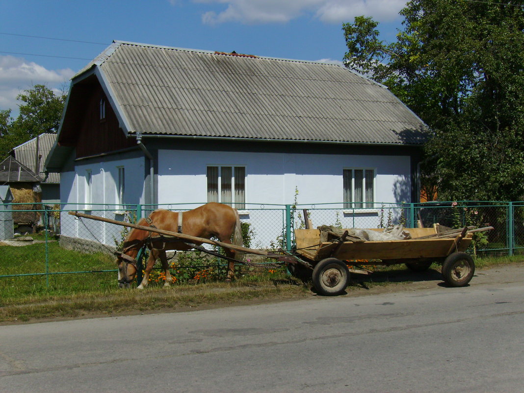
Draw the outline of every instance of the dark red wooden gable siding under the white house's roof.
<instances>
[{"instance_id":1,"label":"dark red wooden gable siding under the white house's roof","mask_svg":"<svg viewBox=\"0 0 524 393\"><path fill-rule=\"evenodd\" d=\"M100 84L92 84L92 89L85 93L89 95L84 101L84 108L77 113L79 133L76 146L77 158L89 157L101 153L121 150L136 146L134 137L126 138L118 119L104 94ZM105 100L105 118L100 119L100 100Z\"/></svg>"}]
</instances>

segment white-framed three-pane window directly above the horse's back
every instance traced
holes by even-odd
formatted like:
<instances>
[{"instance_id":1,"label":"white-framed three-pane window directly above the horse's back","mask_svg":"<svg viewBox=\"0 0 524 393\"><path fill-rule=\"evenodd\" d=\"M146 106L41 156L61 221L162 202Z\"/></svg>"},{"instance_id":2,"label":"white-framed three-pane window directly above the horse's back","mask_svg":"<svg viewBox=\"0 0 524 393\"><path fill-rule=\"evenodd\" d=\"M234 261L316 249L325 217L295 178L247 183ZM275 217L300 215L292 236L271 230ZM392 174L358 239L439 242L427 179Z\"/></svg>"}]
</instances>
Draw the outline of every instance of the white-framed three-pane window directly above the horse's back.
<instances>
[{"instance_id":1,"label":"white-framed three-pane window directly above the horse's back","mask_svg":"<svg viewBox=\"0 0 524 393\"><path fill-rule=\"evenodd\" d=\"M208 202L221 202L236 209L245 208L245 167L208 167Z\"/></svg>"}]
</instances>

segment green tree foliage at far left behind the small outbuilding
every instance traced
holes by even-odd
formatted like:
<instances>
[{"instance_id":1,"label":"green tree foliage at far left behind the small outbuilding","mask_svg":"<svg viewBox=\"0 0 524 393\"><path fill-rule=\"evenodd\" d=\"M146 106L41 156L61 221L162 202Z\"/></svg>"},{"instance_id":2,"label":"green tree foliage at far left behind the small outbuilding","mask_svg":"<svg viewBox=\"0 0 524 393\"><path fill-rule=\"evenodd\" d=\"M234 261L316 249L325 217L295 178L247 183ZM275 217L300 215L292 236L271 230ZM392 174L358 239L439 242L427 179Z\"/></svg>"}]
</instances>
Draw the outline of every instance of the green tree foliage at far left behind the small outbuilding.
<instances>
[{"instance_id":1,"label":"green tree foliage at far left behind the small outbuilding","mask_svg":"<svg viewBox=\"0 0 524 393\"><path fill-rule=\"evenodd\" d=\"M21 102L19 115L0 111L0 158L16 146L43 133L56 133L65 102L65 94L56 95L45 85L37 84L16 97Z\"/></svg>"}]
</instances>

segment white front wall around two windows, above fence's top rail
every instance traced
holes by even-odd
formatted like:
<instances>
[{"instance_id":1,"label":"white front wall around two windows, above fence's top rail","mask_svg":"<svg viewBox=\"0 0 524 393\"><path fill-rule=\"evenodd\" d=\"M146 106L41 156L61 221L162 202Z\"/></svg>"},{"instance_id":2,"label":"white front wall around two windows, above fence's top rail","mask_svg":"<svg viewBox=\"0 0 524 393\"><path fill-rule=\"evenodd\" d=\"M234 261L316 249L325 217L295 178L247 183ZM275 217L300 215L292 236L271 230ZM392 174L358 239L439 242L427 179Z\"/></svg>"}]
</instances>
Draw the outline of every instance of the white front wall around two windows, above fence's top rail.
<instances>
[{"instance_id":1,"label":"white front wall around two windows, above fence's top rail","mask_svg":"<svg viewBox=\"0 0 524 393\"><path fill-rule=\"evenodd\" d=\"M375 201L410 199L408 156L346 156L226 151L160 150L158 203L205 202L206 167L245 166L246 203L343 202L344 168L376 170Z\"/></svg>"}]
</instances>

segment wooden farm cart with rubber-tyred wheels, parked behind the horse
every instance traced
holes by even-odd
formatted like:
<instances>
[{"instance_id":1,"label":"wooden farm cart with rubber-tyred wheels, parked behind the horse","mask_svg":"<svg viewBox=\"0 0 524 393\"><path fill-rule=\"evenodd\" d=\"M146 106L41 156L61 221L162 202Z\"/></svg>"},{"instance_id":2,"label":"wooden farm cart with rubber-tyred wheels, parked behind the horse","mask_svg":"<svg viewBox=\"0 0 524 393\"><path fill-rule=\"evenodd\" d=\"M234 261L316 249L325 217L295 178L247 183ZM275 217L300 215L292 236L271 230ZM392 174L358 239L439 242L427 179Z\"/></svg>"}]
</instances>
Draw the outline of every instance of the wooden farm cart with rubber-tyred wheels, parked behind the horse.
<instances>
[{"instance_id":1,"label":"wooden farm cart with rubber-tyred wheels, parked behind the horse","mask_svg":"<svg viewBox=\"0 0 524 393\"><path fill-rule=\"evenodd\" d=\"M475 272L473 258L464 251L470 246L472 232L486 231L493 227L466 227L463 230L439 232L438 227L406 228L411 234L408 240L366 241L354 243L341 238L338 242L321 243L318 229L295 230L296 253L307 261L304 265L290 265L297 277L310 275L319 293L335 296L347 287L350 271L367 274L363 269L349 269L347 265L358 266L356 260L373 260L373 265L394 265L404 263L415 271L427 270L433 262L442 264L444 281L452 287L463 287ZM376 230L374 231L381 231ZM347 232L346 232L347 234Z\"/></svg>"}]
</instances>

